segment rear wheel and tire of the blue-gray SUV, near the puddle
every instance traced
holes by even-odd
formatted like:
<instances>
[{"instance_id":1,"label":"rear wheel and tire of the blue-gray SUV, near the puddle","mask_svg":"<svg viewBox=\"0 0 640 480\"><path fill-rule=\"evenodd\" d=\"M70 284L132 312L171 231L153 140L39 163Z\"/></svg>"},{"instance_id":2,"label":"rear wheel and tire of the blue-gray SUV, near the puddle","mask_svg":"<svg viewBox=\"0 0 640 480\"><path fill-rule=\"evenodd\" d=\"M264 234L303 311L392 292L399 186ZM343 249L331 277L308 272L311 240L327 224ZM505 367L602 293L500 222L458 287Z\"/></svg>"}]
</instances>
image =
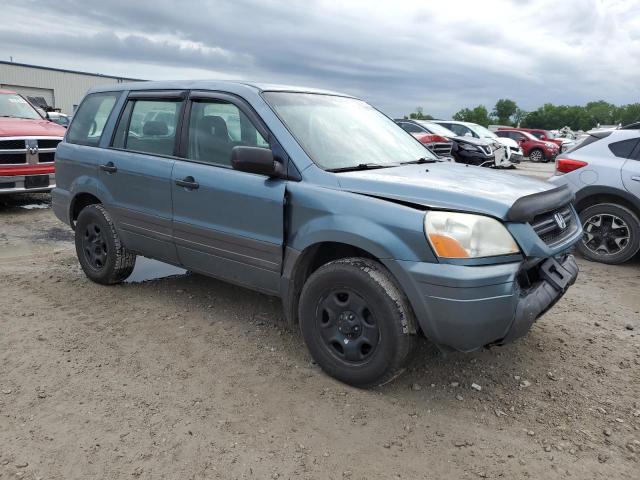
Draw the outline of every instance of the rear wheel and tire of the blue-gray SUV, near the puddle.
<instances>
[{"instance_id":1,"label":"rear wheel and tire of the blue-gray SUV, near the puddle","mask_svg":"<svg viewBox=\"0 0 640 480\"><path fill-rule=\"evenodd\" d=\"M102 285L125 280L136 263L102 205L89 205L78 215L75 231L76 254L85 275Z\"/></svg>"}]
</instances>

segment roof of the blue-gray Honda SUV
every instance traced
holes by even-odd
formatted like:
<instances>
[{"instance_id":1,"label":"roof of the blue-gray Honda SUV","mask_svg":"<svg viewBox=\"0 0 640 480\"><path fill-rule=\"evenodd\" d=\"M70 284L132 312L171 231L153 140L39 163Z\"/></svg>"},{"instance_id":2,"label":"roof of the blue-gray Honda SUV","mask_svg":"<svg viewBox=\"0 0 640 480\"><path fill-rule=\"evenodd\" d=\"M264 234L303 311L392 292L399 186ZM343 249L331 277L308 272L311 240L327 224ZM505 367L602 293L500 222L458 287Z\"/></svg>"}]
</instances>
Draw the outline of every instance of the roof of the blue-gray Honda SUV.
<instances>
[{"instance_id":1,"label":"roof of the blue-gray Honda SUV","mask_svg":"<svg viewBox=\"0 0 640 480\"><path fill-rule=\"evenodd\" d=\"M121 90L222 90L232 93L241 93L243 90L253 90L257 92L297 92L315 93L324 95L338 95L351 97L340 92L322 90L318 88L299 87L293 85L280 85L275 83L229 81L229 80L162 80L143 81L134 83L118 83L111 85L101 85L92 88L91 92L113 92Z\"/></svg>"}]
</instances>

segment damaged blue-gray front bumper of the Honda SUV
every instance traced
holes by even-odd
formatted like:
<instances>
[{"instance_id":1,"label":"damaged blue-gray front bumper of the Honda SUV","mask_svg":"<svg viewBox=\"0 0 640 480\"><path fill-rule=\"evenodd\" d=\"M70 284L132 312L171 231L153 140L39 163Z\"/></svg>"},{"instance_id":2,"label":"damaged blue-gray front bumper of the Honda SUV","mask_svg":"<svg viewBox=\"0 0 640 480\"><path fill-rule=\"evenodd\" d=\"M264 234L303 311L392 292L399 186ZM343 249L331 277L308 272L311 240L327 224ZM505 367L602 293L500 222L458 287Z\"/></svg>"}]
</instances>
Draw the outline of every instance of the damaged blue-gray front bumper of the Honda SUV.
<instances>
[{"instance_id":1,"label":"damaged blue-gray front bumper of the Honda SUV","mask_svg":"<svg viewBox=\"0 0 640 480\"><path fill-rule=\"evenodd\" d=\"M578 275L572 255L528 269L523 262L465 266L389 261L387 266L407 293L425 336L459 351L526 334ZM562 279L554 277L556 270Z\"/></svg>"}]
</instances>

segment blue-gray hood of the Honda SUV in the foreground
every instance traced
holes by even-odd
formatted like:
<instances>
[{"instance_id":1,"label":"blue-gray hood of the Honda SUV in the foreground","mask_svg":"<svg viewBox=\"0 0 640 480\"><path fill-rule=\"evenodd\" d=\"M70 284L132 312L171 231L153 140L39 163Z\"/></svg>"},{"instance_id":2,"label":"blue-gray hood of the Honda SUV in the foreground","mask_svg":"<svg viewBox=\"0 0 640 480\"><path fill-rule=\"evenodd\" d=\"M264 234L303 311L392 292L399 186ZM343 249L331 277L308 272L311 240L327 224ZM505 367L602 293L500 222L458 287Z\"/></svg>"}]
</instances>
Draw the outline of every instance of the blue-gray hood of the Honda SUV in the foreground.
<instances>
[{"instance_id":1,"label":"blue-gray hood of the Honda SUV in the foreground","mask_svg":"<svg viewBox=\"0 0 640 480\"><path fill-rule=\"evenodd\" d=\"M530 177L436 162L338 174L344 190L444 210L505 219L516 200L555 186Z\"/></svg>"}]
</instances>

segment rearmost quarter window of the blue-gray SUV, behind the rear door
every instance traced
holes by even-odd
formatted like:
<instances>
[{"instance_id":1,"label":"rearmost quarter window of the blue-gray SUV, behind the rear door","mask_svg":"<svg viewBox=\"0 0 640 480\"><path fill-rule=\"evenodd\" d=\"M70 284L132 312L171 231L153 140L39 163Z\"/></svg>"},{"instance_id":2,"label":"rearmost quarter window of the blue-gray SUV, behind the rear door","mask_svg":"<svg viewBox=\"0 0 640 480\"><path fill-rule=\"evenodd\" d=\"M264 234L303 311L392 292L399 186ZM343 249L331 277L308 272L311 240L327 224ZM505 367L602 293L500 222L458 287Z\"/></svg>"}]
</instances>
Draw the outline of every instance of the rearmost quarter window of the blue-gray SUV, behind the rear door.
<instances>
[{"instance_id":1,"label":"rearmost quarter window of the blue-gray SUV, behind the rear door","mask_svg":"<svg viewBox=\"0 0 640 480\"><path fill-rule=\"evenodd\" d=\"M66 141L97 147L102 138L102 130L119 95L119 92L87 95L73 117Z\"/></svg>"}]
</instances>

